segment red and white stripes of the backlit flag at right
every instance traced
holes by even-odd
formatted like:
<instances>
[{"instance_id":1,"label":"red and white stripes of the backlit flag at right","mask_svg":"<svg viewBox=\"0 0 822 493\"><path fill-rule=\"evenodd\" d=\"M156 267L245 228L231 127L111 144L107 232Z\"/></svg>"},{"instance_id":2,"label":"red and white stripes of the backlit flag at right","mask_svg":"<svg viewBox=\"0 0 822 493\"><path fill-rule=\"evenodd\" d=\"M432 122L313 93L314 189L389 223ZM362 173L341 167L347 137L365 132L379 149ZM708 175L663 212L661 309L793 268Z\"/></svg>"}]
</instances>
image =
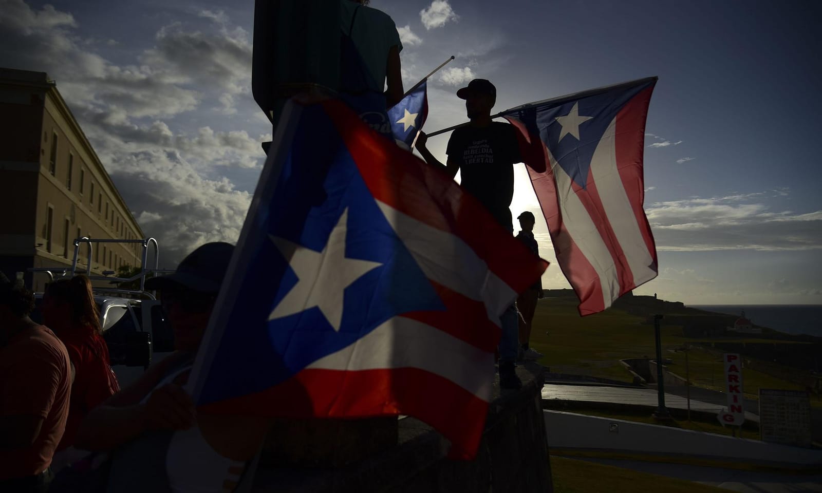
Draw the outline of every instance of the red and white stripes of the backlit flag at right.
<instances>
[{"instance_id":1,"label":"red and white stripes of the backlit flag at right","mask_svg":"<svg viewBox=\"0 0 822 493\"><path fill-rule=\"evenodd\" d=\"M645 117L653 85L631 98L597 144L586 187L551 150L520 130L524 162L547 221L556 259L580 298L580 315L605 310L657 276L657 251L643 209Z\"/></svg>"}]
</instances>

